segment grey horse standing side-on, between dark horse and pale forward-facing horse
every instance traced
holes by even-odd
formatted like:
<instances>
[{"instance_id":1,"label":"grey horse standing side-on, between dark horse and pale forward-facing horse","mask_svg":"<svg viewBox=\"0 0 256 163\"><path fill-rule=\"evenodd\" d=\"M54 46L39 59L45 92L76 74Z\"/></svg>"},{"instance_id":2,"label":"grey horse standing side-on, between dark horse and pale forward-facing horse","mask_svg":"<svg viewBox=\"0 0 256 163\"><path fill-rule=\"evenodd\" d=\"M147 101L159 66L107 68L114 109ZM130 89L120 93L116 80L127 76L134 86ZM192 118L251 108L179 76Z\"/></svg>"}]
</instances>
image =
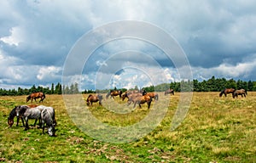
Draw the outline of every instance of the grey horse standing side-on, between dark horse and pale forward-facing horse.
<instances>
[{"instance_id":1,"label":"grey horse standing side-on, between dark horse and pale forward-facing horse","mask_svg":"<svg viewBox=\"0 0 256 163\"><path fill-rule=\"evenodd\" d=\"M25 131L29 129L28 126L28 119L35 119L34 126L36 126L37 121L39 120L39 126L41 126L41 111L42 109L36 107L36 108L29 108L26 105L20 105L16 107L16 114L18 116L22 116L22 118L26 121L25 124Z\"/></svg>"}]
</instances>

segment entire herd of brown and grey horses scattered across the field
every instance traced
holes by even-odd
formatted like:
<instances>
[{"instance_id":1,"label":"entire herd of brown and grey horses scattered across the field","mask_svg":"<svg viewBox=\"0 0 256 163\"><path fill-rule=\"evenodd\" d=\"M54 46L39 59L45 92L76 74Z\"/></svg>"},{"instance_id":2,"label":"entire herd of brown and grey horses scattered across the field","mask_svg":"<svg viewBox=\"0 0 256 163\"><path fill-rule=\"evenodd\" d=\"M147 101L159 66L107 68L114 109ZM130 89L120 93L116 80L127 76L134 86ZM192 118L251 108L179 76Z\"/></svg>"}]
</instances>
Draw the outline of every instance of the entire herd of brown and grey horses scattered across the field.
<instances>
[{"instance_id":1,"label":"entire herd of brown and grey horses scattered across the field","mask_svg":"<svg viewBox=\"0 0 256 163\"><path fill-rule=\"evenodd\" d=\"M241 97L247 96L247 91L245 89L239 89L236 90L234 88L225 88L223 91L219 93L219 97L222 97L223 94L225 97L227 97L228 94L232 94L233 98L237 98L239 95ZM174 95L173 89L167 89L164 94L170 94ZM150 108L150 104L152 103L153 99L157 101L159 99L158 93L147 93L145 90L141 91L125 91L123 93L121 90L110 90L106 98L108 99L113 98L115 96L119 96L119 100L124 101L125 98L127 98L127 105L130 105L133 103L133 108L136 107L136 105L139 105L139 108L142 108L141 104L148 104L148 109ZM44 101L45 94L44 93L31 93L29 96L26 97L26 103L31 100L35 100L37 102L37 98L40 98L39 103ZM86 99L87 105L92 105L93 103L99 102L100 105L102 105L102 94L90 94L88 98ZM39 121L39 127L43 128L44 133L44 126L46 125L48 128L48 134L49 136L55 136L55 110L52 107L44 106L44 105L37 105L37 104L29 104L29 105L19 105L15 106L13 110L10 111L9 117L8 117L8 124L9 127L13 126L14 124L14 118L17 117L17 124L16 126L19 126L19 121L21 119L23 126L25 127L25 130L29 129L28 126L28 120L29 119L35 119L34 126L36 126L37 121ZM25 121L25 123L24 123Z\"/></svg>"}]
</instances>

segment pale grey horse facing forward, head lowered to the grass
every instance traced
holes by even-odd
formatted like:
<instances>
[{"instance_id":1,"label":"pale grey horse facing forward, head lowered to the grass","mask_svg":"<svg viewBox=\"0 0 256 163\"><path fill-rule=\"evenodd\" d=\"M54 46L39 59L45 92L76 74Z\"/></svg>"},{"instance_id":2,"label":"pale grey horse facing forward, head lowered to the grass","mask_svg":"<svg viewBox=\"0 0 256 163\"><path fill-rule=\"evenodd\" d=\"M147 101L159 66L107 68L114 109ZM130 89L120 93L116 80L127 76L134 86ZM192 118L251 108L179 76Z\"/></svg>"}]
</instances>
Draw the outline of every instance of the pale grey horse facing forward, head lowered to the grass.
<instances>
[{"instance_id":1,"label":"pale grey horse facing forward, head lowered to the grass","mask_svg":"<svg viewBox=\"0 0 256 163\"><path fill-rule=\"evenodd\" d=\"M48 126L49 136L50 137L55 136L55 125L56 125L55 110L52 107L43 106L43 110L41 111L40 115L42 120L43 133L44 133L44 124L46 124L46 126Z\"/></svg>"}]
</instances>

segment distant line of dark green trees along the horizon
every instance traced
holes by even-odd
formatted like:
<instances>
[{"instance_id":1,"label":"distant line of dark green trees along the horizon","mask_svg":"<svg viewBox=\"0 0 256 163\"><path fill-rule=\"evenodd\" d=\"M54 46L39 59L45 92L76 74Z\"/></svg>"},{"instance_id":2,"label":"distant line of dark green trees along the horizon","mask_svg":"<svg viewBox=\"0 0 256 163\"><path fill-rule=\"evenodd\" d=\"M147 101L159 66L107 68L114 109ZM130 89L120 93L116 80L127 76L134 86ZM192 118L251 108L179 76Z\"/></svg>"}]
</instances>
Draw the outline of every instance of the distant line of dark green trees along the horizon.
<instances>
[{"instance_id":1,"label":"distant line of dark green trees along the horizon","mask_svg":"<svg viewBox=\"0 0 256 163\"><path fill-rule=\"evenodd\" d=\"M193 86L193 88L192 88ZM157 86L143 87L147 92L163 92L168 88L172 88L175 92L180 91L195 91L195 92L220 92L224 88L235 88L235 89L246 89L247 91L256 91L256 82L248 81L244 82L241 80L226 80L225 78L215 78L212 76L211 79L204 80L199 82L198 80L193 81L182 81L182 82L171 82L171 83L162 83ZM117 89L114 87L113 89ZM125 88L119 88L123 92L126 91ZM135 86L134 90L138 90L138 87ZM109 90L90 90L85 89L82 93L107 93ZM80 93L79 92L79 84L73 83L71 86L61 86L61 83L57 83L56 85L52 83L51 87L36 87L33 85L31 88L21 88L18 89L3 89L0 88L0 96L19 96L19 95L28 95L30 93L43 92L46 94L72 94L72 93Z\"/></svg>"}]
</instances>

